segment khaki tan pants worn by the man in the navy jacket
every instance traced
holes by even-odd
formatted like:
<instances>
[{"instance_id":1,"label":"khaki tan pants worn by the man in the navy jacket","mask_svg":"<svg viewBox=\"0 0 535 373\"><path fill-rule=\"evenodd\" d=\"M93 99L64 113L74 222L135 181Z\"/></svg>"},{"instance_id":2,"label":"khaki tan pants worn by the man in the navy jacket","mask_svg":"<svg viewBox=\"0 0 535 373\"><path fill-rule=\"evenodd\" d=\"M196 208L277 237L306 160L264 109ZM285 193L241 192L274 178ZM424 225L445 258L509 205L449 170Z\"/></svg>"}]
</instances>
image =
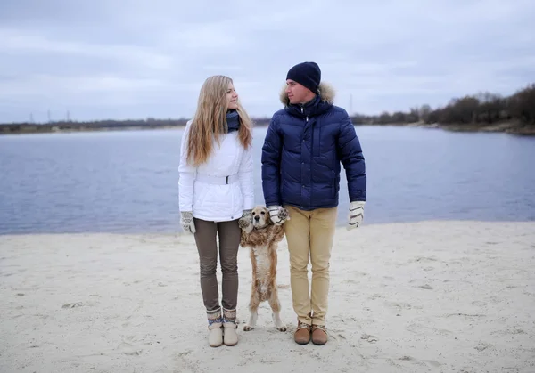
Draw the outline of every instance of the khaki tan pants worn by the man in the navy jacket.
<instances>
[{"instance_id":1,"label":"khaki tan pants worn by the man in the navy jacket","mask_svg":"<svg viewBox=\"0 0 535 373\"><path fill-rule=\"evenodd\" d=\"M329 261L336 228L337 207L303 211L284 206L290 220L284 232L290 255L293 311L306 324L325 326L329 294ZM310 260L309 260L310 258ZM309 262L312 264L309 291Z\"/></svg>"}]
</instances>

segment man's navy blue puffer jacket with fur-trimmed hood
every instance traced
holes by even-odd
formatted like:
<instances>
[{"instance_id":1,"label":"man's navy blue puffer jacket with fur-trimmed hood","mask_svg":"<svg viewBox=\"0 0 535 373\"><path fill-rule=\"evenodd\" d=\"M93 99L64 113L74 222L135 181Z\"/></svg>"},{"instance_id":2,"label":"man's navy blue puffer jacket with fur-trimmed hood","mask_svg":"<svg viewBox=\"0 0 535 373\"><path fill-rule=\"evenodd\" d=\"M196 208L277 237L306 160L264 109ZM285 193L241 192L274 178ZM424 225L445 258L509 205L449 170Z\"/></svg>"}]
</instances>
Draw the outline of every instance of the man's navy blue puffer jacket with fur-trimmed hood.
<instances>
[{"instance_id":1,"label":"man's navy blue puffer jacket with fur-trimmed hood","mask_svg":"<svg viewBox=\"0 0 535 373\"><path fill-rule=\"evenodd\" d=\"M266 206L303 210L338 206L341 162L350 201L366 201L366 166L355 127L345 109L333 105L333 89L322 83L320 95L292 105L271 118L262 147L262 188Z\"/></svg>"}]
</instances>

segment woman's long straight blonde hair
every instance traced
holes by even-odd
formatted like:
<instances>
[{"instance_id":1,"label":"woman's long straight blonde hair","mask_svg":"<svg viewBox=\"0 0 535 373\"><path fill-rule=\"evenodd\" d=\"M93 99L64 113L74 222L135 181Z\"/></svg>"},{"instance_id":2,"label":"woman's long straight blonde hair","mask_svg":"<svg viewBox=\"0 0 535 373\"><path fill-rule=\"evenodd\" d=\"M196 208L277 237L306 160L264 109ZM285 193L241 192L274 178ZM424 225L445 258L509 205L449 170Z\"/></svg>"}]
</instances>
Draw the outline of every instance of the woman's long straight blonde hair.
<instances>
[{"instance_id":1,"label":"woman's long straight blonde hair","mask_svg":"<svg viewBox=\"0 0 535 373\"><path fill-rule=\"evenodd\" d=\"M226 91L230 77L216 75L204 81L199 93L197 110L193 116L187 143L187 162L199 166L210 157L214 139L219 144L221 134L226 134ZM236 111L239 114L240 129L238 137L244 149L251 146L251 118L238 101Z\"/></svg>"}]
</instances>

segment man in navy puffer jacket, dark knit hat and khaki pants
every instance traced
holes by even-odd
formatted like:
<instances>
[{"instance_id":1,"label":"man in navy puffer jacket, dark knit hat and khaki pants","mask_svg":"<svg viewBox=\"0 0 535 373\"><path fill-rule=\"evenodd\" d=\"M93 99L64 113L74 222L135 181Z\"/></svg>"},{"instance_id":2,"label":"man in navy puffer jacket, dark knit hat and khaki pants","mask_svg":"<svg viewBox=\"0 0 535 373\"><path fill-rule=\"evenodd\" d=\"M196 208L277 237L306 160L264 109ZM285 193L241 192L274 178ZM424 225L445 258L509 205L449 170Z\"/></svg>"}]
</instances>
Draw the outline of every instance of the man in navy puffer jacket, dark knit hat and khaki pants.
<instances>
[{"instance_id":1,"label":"man in navy puffer jacket, dark knit hat and khaki pants","mask_svg":"<svg viewBox=\"0 0 535 373\"><path fill-rule=\"evenodd\" d=\"M329 260L340 190L341 162L350 195L348 229L357 228L366 203L366 166L346 110L333 105L333 89L321 83L315 62L288 71L281 93L284 109L271 118L262 148L262 188L269 214L284 223L290 255L294 340L327 342L325 315ZM281 207L289 219L279 214ZM309 293L308 264L312 264Z\"/></svg>"}]
</instances>

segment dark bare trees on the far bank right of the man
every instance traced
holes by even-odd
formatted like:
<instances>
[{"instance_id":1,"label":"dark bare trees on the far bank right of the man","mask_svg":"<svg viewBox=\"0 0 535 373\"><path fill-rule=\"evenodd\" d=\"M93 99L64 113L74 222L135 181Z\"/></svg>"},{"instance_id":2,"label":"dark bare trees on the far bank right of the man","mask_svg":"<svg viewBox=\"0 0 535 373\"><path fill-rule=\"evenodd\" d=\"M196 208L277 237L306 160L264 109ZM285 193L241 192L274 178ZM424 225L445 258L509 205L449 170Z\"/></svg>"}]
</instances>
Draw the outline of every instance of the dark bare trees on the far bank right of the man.
<instances>
[{"instance_id":1,"label":"dark bare trees on the far bank right of the man","mask_svg":"<svg viewBox=\"0 0 535 373\"><path fill-rule=\"evenodd\" d=\"M383 112L378 116L354 115L356 124L425 124L490 125L517 120L535 126L535 84L503 97L496 93L478 93L454 98L448 105L432 109L429 105L411 108L408 112Z\"/></svg>"}]
</instances>

